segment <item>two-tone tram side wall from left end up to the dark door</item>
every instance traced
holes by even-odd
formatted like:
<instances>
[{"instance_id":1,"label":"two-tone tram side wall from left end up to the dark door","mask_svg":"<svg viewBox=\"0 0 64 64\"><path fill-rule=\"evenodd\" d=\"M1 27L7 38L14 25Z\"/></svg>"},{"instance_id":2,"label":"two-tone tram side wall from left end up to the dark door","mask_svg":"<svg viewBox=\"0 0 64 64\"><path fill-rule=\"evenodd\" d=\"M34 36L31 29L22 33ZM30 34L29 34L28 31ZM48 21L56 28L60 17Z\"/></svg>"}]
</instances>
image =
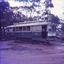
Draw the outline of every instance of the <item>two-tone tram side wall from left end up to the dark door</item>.
<instances>
[{"instance_id":1,"label":"two-tone tram side wall from left end up to the dark door","mask_svg":"<svg viewBox=\"0 0 64 64\"><path fill-rule=\"evenodd\" d=\"M44 29L45 30L45 29ZM30 26L30 30L17 30L16 27L7 28L6 36L8 39L32 39L32 40L40 40L44 36L44 32L42 32L42 26ZM46 38L45 38L46 39Z\"/></svg>"}]
</instances>

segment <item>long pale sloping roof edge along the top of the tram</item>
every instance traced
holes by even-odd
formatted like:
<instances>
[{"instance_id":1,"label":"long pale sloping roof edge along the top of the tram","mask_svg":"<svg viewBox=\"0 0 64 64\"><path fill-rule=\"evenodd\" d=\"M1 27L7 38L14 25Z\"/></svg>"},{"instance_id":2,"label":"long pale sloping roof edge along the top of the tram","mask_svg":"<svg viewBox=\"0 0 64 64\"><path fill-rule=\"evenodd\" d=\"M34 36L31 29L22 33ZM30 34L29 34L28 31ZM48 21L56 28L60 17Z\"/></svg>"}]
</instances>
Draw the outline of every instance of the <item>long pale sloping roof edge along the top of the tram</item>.
<instances>
[{"instance_id":1,"label":"long pale sloping roof edge along the top of the tram","mask_svg":"<svg viewBox=\"0 0 64 64\"><path fill-rule=\"evenodd\" d=\"M35 26L35 25L48 25L50 22L31 22L31 23L16 23L8 27L21 27L21 26Z\"/></svg>"}]
</instances>

